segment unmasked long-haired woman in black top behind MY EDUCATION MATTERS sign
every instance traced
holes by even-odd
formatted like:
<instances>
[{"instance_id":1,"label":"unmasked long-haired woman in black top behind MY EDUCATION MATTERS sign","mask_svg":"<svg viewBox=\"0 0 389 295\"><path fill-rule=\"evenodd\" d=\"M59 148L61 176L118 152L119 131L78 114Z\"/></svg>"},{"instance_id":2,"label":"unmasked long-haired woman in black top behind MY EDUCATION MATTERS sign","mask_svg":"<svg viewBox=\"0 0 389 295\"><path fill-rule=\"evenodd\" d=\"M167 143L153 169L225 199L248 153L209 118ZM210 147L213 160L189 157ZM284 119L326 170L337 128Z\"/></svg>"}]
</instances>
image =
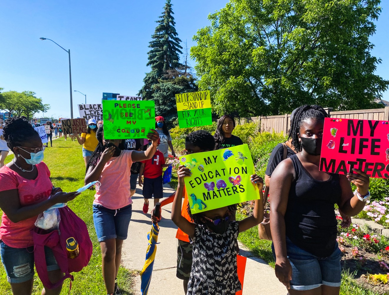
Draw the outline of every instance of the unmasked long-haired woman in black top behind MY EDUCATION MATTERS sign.
<instances>
[{"instance_id":1,"label":"unmasked long-haired woman in black top behind MY EDUCATION MATTERS sign","mask_svg":"<svg viewBox=\"0 0 389 295\"><path fill-rule=\"evenodd\" d=\"M234 128L235 120L233 116L224 115L219 119L214 136L216 142L215 150L243 145L242 140L238 136L232 135Z\"/></svg>"}]
</instances>

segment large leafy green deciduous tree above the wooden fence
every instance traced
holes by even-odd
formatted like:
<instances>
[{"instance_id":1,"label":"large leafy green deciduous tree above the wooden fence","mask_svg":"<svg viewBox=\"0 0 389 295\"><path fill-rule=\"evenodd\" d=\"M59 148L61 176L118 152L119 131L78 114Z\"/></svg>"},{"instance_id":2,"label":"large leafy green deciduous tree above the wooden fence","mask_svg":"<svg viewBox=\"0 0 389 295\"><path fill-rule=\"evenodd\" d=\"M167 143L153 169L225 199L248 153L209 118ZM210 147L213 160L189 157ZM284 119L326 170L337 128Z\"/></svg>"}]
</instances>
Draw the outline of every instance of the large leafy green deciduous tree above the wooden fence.
<instances>
[{"instance_id":1,"label":"large leafy green deciduous tree above the wooden fence","mask_svg":"<svg viewBox=\"0 0 389 295\"><path fill-rule=\"evenodd\" d=\"M231 0L191 48L220 115L278 115L301 104L378 108L389 81L371 56L380 0Z\"/></svg>"}]
</instances>

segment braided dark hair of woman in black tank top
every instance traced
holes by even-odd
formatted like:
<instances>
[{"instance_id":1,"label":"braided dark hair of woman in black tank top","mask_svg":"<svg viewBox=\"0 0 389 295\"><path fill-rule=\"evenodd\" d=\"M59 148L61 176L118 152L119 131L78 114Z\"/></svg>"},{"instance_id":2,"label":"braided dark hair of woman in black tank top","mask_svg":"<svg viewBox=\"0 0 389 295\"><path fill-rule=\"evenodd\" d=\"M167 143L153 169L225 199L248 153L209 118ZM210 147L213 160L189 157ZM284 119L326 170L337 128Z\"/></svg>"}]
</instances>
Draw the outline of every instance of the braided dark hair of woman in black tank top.
<instances>
[{"instance_id":1,"label":"braided dark hair of woman in black tank top","mask_svg":"<svg viewBox=\"0 0 389 295\"><path fill-rule=\"evenodd\" d=\"M292 145L296 152L301 152L302 150L301 143L298 140L298 133L300 133L301 122L308 118L316 118L317 120L324 122L324 118L328 117L329 116L327 112L321 106L315 104L305 104L295 110L291 122L291 128L289 129L288 139L292 139Z\"/></svg>"}]
</instances>

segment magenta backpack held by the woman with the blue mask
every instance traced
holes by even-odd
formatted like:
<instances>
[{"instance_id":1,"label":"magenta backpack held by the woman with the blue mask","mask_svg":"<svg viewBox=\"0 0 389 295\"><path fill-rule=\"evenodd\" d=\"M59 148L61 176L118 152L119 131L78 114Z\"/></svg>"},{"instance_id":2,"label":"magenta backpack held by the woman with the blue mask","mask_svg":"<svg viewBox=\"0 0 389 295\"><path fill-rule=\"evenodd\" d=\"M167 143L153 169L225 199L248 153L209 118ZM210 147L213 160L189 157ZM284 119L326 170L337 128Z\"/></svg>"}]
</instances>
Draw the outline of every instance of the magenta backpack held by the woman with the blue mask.
<instances>
[{"instance_id":1,"label":"magenta backpack held by the woman with the blue mask","mask_svg":"<svg viewBox=\"0 0 389 295\"><path fill-rule=\"evenodd\" d=\"M60 210L61 221L58 230L50 233L42 233L43 230L35 227L34 238L34 260L38 276L44 286L49 289L57 288L63 281L70 278L70 289L74 277L71 272L79 272L88 265L92 256L92 242L89 238L88 228L69 207L58 208ZM73 237L79 246L79 254L76 258L70 259L67 254L66 240ZM46 255L44 246L51 248L54 257L65 276L56 284L49 281L47 275Z\"/></svg>"}]
</instances>

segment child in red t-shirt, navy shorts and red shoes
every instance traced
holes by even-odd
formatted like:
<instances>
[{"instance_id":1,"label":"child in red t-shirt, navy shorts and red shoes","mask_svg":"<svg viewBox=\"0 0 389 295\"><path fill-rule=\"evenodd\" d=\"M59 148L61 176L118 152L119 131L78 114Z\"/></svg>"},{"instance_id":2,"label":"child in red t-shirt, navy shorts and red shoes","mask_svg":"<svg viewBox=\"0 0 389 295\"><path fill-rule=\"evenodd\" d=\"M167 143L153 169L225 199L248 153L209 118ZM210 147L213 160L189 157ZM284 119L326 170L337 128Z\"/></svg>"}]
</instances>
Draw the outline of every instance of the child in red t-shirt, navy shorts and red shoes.
<instances>
[{"instance_id":1,"label":"child in red t-shirt, navy shorts and red shoes","mask_svg":"<svg viewBox=\"0 0 389 295\"><path fill-rule=\"evenodd\" d=\"M141 161L140 163L139 186L143 185L143 213L147 214L149 211L149 199L152 198L153 194L154 206L163 197L162 168L168 167L169 164L165 164L165 158L159 150L156 150L151 159ZM142 174L144 176L143 181Z\"/></svg>"}]
</instances>

